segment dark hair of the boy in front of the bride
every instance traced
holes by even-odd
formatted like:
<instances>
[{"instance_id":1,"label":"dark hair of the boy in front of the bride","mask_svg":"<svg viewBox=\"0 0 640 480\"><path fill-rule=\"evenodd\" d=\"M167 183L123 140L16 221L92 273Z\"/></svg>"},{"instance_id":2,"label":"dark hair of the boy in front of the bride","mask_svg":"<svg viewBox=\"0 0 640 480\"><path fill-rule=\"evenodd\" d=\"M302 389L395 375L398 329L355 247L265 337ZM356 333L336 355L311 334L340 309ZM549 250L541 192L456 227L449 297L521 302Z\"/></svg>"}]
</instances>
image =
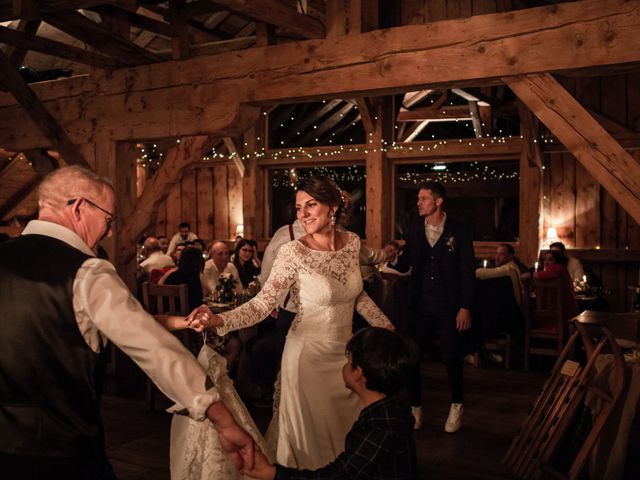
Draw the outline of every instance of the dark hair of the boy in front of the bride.
<instances>
[{"instance_id":1,"label":"dark hair of the boy in front of the bride","mask_svg":"<svg viewBox=\"0 0 640 480\"><path fill-rule=\"evenodd\" d=\"M360 367L369 390L393 395L405 386L407 374L417 361L415 344L386 328L358 330L347 343L351 366Z\"/></svg>"}]
</instances>

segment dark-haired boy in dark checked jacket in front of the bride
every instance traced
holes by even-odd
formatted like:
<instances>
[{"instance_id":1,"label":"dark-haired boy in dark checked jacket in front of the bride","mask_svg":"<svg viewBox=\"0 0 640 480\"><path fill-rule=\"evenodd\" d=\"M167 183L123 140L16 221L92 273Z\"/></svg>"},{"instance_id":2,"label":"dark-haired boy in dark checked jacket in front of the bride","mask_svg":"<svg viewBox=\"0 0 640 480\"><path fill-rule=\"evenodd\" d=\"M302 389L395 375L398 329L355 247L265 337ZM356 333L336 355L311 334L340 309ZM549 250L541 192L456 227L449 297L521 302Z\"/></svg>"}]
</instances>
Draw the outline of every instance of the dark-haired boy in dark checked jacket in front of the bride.
<instances>
[{"instance_id":1,"label":"dark-haired boy in dark checked jacket in front of the bride","mask_svg":"<svg viewBox=\"0 0 640 480\"><path fill-rule=\"evenodd\" d=\"M395 397L416 362L415 348L395 332L370 327L359 330L346 349L342 378L364 409L347 434L344 451L312 471L270 465L256 450L253 470L243 473L265 480L418 478L414 420Z\"/></svg>"}]
</instances>

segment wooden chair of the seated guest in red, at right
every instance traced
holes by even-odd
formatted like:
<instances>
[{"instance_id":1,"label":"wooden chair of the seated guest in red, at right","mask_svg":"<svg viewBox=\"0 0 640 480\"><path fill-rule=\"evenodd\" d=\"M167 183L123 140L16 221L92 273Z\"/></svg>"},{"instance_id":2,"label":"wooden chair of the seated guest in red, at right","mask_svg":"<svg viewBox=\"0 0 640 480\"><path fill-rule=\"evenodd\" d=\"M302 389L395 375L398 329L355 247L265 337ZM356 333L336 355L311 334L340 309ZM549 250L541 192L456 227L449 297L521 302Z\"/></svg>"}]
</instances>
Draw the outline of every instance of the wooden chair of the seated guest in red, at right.
<instances>
[{"instance_id":1,"label":"wooden chair of the seated guest in red, at right","mask_svg":"<svg viewBox=\"0 0 640 480\"><path fill-rule=\"evenodd\" d=\"M567 333L563 318L561 280L536 280L534 294L525 308L524 369L531 355L557 357Z\"/></svg>"}]
</instances>

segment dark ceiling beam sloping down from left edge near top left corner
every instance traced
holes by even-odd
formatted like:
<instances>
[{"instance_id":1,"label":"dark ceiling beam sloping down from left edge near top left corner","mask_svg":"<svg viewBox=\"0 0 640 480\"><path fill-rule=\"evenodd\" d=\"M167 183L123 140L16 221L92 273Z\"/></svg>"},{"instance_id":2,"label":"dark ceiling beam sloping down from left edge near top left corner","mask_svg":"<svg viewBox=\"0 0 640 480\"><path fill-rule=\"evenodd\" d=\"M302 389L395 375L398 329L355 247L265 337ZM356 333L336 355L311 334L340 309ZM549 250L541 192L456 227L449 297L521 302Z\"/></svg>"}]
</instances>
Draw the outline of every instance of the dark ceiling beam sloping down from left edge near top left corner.
<instances>
[{"instance_id":1,"label":"dark ceiling beam sloping down from left edge near top left corner","mask_svg":"<svg viewBox=\"0 0 640 480\"><path fill-rule=\"evenodd\" d=\"M123 66L120 61L105 55L72 47L71 45L56 42L55 40L28 35L26 32L19 32L8 27L0 26L0 42L13 45L16 49L23 51L33 50L34 52L44 53L53 57L66 58L67 60L107 70ZM13 59L10 59L10 61L13 65L16 65Z\"/></svg>"}]
</instances>

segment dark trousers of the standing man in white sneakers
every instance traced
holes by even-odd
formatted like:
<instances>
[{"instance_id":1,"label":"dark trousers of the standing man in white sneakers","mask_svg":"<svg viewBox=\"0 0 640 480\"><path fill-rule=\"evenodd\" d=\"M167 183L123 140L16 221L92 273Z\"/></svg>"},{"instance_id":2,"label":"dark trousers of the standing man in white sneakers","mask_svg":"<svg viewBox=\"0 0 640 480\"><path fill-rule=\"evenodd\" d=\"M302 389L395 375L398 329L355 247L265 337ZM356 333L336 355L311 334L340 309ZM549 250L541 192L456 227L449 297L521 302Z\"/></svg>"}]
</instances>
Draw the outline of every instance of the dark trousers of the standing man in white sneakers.
<instances>
[{"instance_id":1,"label":"dark trousers of the standing man in white sneakers","mask_svg":"<svg viewBox=\"0 0 640 480\"><path fill-rule=\"evenodd\" d=\"M440 356L447 369L451 403L462 403L463 400L463 337L456 330L458 310L441 305L439 299L422 299L422 311L410 322L409 335L417 343L419 358L422 358L425 347L434 338L440 342ZM422 403L422 376L420 363L409 372L407 382L409 401L412 406Z\"/></svg>"}]
</instances>

